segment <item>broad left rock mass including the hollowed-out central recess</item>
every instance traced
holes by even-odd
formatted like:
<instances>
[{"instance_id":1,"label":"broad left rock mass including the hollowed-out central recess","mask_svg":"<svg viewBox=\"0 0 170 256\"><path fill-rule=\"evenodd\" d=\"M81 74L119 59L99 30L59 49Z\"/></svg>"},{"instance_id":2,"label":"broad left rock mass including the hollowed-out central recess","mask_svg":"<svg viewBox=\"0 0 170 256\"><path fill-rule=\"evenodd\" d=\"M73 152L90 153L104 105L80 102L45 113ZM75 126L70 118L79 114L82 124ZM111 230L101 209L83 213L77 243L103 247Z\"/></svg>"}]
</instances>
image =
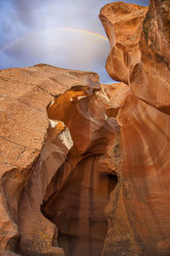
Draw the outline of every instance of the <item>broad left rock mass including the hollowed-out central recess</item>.
<instances>
[{"instance_id":1,"label":"broad left rock mass including the hollowed-out central recess","mask_svg":"<svg viewBox=\"0 0 170 256\"><path fill-rule=\"evenodd\" d=\"M44 64L0 75L0 252L99 255L104 210L117 183L108 156L120 127L111 113L126 102L129 87Z\"/></svg>"}]
</instances>

